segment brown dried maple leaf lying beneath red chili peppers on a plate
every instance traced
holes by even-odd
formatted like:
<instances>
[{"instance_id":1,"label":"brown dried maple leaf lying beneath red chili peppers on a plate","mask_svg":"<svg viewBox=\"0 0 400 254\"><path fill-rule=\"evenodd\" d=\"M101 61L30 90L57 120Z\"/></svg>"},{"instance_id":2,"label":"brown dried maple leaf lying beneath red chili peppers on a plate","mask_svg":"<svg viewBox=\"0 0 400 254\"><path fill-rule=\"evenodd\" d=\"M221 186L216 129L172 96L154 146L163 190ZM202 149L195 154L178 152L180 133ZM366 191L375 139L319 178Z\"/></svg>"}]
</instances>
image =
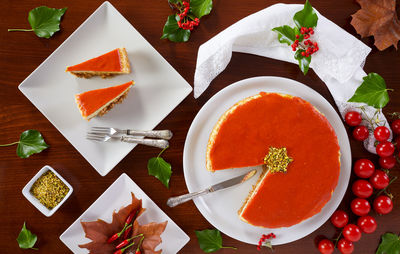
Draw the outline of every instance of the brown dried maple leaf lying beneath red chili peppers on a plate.
<instances>
[{"instance_id":1,"label":"brown dried maple leaf lying beneath red chili peppers on a plate","mask_svg":"<svg viewBox=\"0 0 400 254\"><path fill-rule=\"evenodd\" d=\"M113 243L107 243L110 236L118 233L122 230L125 224L125 219L131 212L139 211L136 218L138 218L146 209L142 208L142 200L139 200L132 193L131 204L121 208L118 212L113 212L111 223L107 223L101 219L97 221L81 222L85 236L92 241L87 244L79 245L81 248L86 248L89 253L92 254L110 254L115 252L115 246L121 242L121 240L114 241ZM163 223L149 223L146 225L140 225L136 219L133 222L133 230L131 236L143 234L144 239L142 242L141 249L144 254L155 254L161 253L155 251L155 248L161 243L161 234L164 232L167 226L167 221ZM129 236L130 237L130 236ZM132 246L132 249L136 246Z\"/></svg>"}]
</instances>

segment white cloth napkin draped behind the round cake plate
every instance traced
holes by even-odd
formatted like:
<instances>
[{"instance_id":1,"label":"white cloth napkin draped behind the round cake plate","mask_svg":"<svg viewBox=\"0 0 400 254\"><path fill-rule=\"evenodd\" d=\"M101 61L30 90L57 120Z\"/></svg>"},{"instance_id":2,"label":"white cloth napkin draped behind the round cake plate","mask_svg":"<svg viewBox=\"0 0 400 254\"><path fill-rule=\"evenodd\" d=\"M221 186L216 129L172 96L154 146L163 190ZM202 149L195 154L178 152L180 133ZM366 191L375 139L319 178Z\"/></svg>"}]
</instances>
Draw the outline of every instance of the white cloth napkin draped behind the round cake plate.
<instances>
[{"instance_id":1,"label":"white cloth napkin draped behind the round cake plate","mask_svg":"<svg viewBox=\"0 0 400 254\"><path fill-rule=\"evenodd\" d=\"M293 15L302 8L303 5L299 4L272 5L243 18L202 44L197 55L194 97L199 97L226 68L233 51L298 64L292 48L281 44L272 28L283 25L294 27ZM342 117L351 110L361 113L357 107L363 104L349 103L347 100L353 96L366 75L362 67L371 49L319 12L317 15L318 25L312 40L318 42L319 51L312 55L310 68L327 85ZM371 118L376 110L365 105L365 111L367 117ZM383 114L379 113L378 117L382 124L389 127ZM369 126L365 120L362 124ZM375 138L370 132L364 146L372 153L376 153L374 142Z\"/></svg>"}]
</instances>

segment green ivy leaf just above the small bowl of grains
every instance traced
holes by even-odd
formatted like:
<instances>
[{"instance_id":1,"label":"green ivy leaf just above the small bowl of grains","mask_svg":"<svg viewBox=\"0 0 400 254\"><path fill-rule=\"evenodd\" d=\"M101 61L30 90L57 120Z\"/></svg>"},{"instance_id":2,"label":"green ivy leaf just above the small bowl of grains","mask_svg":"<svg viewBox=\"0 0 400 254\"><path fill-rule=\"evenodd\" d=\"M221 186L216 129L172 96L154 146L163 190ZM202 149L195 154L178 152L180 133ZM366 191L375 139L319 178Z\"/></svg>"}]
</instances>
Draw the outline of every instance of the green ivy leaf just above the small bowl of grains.
<instances>
[{"instance_id":1,"label":"green ivy leaf just above the small bowl of grains","mask_svg":"<svg viewBox=\"0 0 400 254\"><path fill-rule=\"evenodd\" d=\"M39 131L26 130L21 133L18 141L17 155L21 158L28 158L32 154L40 153L48 147Z\"/></svg>"}]
</instances>

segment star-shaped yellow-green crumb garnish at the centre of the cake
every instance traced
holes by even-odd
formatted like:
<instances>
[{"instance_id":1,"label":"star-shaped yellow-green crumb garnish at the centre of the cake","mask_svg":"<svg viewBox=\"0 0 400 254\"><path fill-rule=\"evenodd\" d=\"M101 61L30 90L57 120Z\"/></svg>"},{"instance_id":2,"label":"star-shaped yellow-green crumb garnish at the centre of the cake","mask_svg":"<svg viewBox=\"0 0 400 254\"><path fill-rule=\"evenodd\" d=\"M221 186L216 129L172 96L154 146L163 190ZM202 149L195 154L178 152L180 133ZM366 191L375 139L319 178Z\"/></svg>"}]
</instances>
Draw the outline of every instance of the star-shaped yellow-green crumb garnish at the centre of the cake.
<instances>
[{"instance_id":1,"label":"star-shaped yellow-green crumb garnish at the centre of the cake","mask_svg":"<svg viewBox=\"0 0 400 254\"><path fill-rule=\"evenodd\" d=\"M286 147L270 147L269 153L264 157L264 164L271 173L286 173L292 161L293 159L287 155Z\"/></svg>"}]
</instances>

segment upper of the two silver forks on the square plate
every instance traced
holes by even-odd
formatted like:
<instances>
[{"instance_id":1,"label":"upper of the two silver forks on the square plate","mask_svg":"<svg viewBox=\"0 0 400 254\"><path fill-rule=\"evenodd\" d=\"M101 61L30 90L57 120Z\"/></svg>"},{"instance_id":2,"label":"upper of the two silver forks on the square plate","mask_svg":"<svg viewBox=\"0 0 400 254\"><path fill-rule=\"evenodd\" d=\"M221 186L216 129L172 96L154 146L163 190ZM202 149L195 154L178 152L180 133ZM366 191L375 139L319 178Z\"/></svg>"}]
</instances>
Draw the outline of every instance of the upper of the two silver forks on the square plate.
<instances>
[{"instance_id":1,"label":"upper of the two silver forks on the square plate","mask_svg":"<svg viewBox=\"0 0 400 254\"><path fill-rule=\"evenodd\" d=\"M172 138L172 132L170 130L139 131L139 130L121 130L109 127L92 127L89 133L99 133L109 136L113 136L116 134L125 134L129 136L145 136L149 138L162 138L167 140Z\"/></svg>"}]
</instances>

